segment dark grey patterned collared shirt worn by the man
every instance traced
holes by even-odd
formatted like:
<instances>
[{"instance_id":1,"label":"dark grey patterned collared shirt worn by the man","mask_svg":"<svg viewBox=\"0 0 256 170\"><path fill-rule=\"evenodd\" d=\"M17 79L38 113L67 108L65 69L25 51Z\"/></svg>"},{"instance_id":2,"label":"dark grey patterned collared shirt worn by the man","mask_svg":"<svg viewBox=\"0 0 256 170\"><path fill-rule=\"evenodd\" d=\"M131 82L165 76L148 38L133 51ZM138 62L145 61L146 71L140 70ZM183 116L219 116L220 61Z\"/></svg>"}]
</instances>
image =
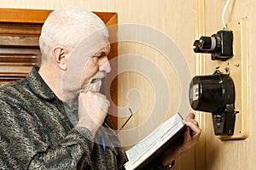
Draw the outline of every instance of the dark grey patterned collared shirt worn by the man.
<instances>
[{"instance_id":1,"label":"dark grey patterned collared shirt worn by the man","mask_svg":"<svg viewBox=\"0 0 256 170\"><path fill-rule=\"evenodd\" d=\"M115 133L100 127L93 139L87 128L74 127L77 109L56 98L38 68L2 85L0 96L0 169L124 168Z\"/></svg>"}]
</instances>

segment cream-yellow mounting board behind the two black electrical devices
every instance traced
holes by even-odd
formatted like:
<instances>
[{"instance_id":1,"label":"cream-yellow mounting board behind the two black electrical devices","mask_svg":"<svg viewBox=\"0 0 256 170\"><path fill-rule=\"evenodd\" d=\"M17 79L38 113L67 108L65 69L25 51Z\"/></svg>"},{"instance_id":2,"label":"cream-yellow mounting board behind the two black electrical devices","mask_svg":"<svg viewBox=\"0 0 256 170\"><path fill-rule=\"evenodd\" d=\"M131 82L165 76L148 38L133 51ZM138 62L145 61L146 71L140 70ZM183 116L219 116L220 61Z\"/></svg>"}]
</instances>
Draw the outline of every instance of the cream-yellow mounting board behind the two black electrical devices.
<instances>
[{"instance_id":1,"label":"cream-yellow mounting board behind the two black electrical devices","mask_svg":"<svg viewBox=\"0 0 256 170\"><path fill-rule=\"evenodd\" d=\"M222 72L230 72L236 89L236 122L232 136L219 136L220 139L246 139L248 137L248 52L247 19L230 22L233 31L233 54L226 61L214 60L215 67ZM215 68L212 68L214 70Z\"/></svg>"}]
</instances>

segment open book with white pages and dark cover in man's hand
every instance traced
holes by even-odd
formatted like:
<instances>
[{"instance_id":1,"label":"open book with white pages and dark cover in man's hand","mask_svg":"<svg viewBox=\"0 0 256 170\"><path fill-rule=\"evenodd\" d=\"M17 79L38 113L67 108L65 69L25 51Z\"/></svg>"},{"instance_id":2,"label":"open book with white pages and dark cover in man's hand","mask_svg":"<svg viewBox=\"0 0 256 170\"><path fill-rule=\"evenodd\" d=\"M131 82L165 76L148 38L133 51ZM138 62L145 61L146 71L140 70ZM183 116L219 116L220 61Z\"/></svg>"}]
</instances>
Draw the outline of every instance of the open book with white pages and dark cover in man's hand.
<instances>
[{"instance_id":1,"label":"open book with white pages and dark cover in man's hand","mask_svg":"<svg viewBox=\"0 0 256 170\"><path fill-rule=\"evenodd\" d=\"M125 169L143 169L146 167L150 162L160 156L175 140L183 138L185 127L183 117L178 113L160 124L147 137L130 150L126 150L125 153L129 161L125 163Z\"/></svg>"}]
</instances>

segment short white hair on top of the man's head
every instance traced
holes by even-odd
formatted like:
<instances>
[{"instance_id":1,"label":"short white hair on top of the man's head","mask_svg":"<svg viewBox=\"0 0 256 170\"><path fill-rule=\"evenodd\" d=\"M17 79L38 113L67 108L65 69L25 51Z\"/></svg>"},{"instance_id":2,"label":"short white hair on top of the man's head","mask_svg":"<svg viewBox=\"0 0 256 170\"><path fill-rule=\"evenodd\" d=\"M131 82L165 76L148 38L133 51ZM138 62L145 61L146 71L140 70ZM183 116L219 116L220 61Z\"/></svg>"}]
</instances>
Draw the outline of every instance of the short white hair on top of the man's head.
<instances>
[{"instance_id":1,"label":"short white hair on top of the man's head","mask_svg":"<svg viewBox=\"0 0 256 170\"><path fill-rule=\"evenodd\" d=\"M60 8L49 14L42 27L39 47L42 63L48 62L56 45L74 48L84 37L99 31L108 38L108 29L103 21L84 8Z\"/></svg>"}]
</instances>

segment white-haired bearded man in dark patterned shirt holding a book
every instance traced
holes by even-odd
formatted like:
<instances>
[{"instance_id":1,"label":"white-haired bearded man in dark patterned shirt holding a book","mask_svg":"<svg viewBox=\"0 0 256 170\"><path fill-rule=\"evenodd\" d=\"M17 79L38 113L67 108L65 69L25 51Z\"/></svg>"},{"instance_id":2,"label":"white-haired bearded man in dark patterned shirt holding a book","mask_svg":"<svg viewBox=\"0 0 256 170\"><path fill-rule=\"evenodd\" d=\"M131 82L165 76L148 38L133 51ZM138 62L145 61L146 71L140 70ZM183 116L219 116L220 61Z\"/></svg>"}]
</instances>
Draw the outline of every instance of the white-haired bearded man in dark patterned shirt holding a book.
<instances>
[{"instance_id":1,"label":"white-haired bearded man in dark patterned shirt holding a book","mask_svg":"<svg viewBox=\"0 0 256 170\"><path fill-rule=\"evenodd\" d=\"M111 126L108 99L99 93L101 79L111 71L102 20L82 8L55 10L39 44L40 68L0 88L0 167L123 169L119 140L102 127ZM201 129L194 115L184 122L183 144L166 150L152 168L168 167L196 144Z\"/></svg>"}]
</instances>

